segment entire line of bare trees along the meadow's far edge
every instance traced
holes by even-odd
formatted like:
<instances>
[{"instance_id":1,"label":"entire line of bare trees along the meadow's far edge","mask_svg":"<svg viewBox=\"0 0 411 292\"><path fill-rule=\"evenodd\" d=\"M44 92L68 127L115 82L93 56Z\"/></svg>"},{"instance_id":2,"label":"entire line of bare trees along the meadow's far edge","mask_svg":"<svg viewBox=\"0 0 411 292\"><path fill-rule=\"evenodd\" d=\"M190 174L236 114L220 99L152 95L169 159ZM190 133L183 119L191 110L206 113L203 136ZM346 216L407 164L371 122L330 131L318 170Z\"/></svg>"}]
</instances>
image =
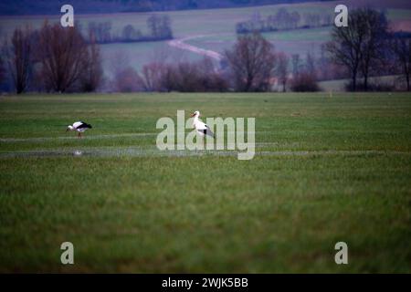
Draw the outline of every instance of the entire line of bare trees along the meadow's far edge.
<instances>
[{"instance_id":1,"label":"entire line of bare trees along the meadow's far edge","mask_svg":"<svg viewBox=\"0 0 411 292\"><path fill-rule=\"evenodd\" d=\"M18 28L2 48L0 78L11 77L17 93L259 92L316 91L318 80L346 77L349 90L392 90L370 78L400 75L410 90L411 35L390 32L385 14L370 8L351 11L348 27L333 28L320 56L278 52L257 31L238 35L219 64L208 58L169 62L160 57L137 72L118 54L111 57L111 78L103 78L95 31L84 37L78 26Z\"/></svg>"}]
</instances>

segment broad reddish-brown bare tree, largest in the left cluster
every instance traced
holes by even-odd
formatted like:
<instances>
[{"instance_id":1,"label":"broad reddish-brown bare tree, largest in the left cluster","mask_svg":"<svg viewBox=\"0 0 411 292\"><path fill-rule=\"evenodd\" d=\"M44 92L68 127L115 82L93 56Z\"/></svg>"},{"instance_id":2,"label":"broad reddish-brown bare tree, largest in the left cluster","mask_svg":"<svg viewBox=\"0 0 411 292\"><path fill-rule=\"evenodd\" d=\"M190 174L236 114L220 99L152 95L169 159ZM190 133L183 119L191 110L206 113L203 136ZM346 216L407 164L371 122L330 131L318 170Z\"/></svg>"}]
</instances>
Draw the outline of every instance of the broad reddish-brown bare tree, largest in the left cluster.
<instances>
[{"instance_id":1,"label":"broad reddish-brown bare tree, largest in the left cluster","mask_svg":"<svg viewBox=\"0 0 411 292\"><path fill-rule=\"evenodd\" d=\"M71 89L84 74L88 63L88 45L76 26L58 24L41 28L37 58L42 64L41 76L48 90L64 92Z\"/></svg>"}]
</instances>

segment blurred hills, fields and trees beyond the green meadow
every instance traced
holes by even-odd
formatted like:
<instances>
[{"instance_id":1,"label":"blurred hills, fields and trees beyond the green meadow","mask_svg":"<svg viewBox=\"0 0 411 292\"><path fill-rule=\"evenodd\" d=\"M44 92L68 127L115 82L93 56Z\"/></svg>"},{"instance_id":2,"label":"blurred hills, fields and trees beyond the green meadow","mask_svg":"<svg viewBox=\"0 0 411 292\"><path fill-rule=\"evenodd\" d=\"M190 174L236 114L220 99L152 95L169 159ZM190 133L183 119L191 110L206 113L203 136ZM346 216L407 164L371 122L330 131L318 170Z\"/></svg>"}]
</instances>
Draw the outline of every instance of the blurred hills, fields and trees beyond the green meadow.
<instances>
[{"instance_id":1,"label":"blurred hills, fields and trees beyond the green meadow","mask_svg":"<svg viewBox=\"0 0 411 292\"><path fill-rule=\"evenodd\" d=\"M0 38L3 93L409 90L411 2L5 0Z\"/></svg>"}]
</instances>

